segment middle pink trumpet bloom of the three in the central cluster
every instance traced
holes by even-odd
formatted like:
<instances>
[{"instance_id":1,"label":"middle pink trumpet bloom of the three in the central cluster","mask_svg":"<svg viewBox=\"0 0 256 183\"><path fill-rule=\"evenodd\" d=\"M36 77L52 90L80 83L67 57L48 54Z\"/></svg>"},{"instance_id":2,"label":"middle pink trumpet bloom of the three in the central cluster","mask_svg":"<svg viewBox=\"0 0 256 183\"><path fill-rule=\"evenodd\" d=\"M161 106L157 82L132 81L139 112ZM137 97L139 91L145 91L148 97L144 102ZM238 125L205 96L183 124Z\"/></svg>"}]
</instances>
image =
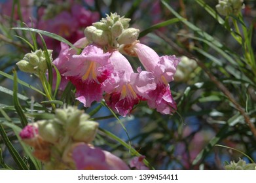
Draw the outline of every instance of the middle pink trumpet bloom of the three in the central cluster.
<instances>
[{"instance_id":1,"label":"middle pink trumpet bloom of the three in the central cluster","mask_svg":"<svg viewBox=\"0 0 256 183\"><path fill-rule=\"evenodd\" d=\"M155 89L154 76L147 71L134 73L129 61L118 51L111 54L110 61L113 73L103 82L103 90L107 92L104 98L115 112L126 116L144 93Z\"/></svg>"}]
</instances>

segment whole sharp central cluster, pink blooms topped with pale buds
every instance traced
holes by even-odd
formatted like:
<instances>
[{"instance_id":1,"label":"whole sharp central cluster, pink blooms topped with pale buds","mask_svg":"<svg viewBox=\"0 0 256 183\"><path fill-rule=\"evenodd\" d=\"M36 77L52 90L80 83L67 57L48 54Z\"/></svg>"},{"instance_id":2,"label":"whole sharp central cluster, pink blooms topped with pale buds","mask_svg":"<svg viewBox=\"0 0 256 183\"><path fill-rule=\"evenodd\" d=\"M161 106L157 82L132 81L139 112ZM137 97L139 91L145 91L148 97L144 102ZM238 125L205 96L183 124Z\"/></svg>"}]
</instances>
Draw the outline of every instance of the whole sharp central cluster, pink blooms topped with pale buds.
<instances>
[{"instance_id":1,"label":"whole sharp central cluster, pink blooms topped with pale buds","mask_svg":"<svg viewBox=\"0 0 256 183\"><path fill-rule=\"evenodd\" d=\"M158 56L139 43L139 30L129 27L130 19L111 14L86 27L86 38L75 46L81 54L62 43L62 50L53 63L65 80L76 88L76 99L90 107L92 102L105 99L107 105L121 116L130 114L134 105L147 101L162 114L172 114L176 104L169 82L174 80L179 58ZM134 72L124 56L139 59L141 67Z\"/></svg>"}]
</instances>

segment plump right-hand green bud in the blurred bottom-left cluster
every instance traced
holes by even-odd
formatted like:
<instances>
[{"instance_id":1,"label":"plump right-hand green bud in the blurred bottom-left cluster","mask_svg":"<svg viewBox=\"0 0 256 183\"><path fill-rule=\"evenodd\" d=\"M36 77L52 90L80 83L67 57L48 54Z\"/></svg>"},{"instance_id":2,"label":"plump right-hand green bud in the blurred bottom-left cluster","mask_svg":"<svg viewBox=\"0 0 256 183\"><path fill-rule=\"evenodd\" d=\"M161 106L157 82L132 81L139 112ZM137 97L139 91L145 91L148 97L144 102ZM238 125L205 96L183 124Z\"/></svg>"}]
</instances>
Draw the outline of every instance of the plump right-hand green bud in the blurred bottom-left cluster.
<instances>
[{"instance_id":1,"label":"plump right-hand green bud in the blurred bottom-left cluster","mask_svg":"<svg viewBox=\"0 0 256 183\"><path fill-rule=\"evenodd\" d=\"M94 121L82 121L73 135L74 141L90 143L94 140L99 124Z\"/></svg>"}]
</instances>

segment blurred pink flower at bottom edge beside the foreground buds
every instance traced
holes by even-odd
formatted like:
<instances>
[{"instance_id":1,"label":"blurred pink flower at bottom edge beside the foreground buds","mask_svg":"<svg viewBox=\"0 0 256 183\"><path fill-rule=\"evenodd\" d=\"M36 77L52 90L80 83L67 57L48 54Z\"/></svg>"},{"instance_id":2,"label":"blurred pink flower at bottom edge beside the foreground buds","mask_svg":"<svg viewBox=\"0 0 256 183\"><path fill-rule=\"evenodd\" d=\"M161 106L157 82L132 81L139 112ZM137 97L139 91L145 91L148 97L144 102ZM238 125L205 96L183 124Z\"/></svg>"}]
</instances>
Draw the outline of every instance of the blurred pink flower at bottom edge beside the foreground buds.
<instances>
[{"instance_id":1,"label":"blurred pink flower at bottom edge beside the foreground buds","mask_svg":"<svg viewBox=\"0 0 256 183\"><path fill-rule=\"evenodd\" d=\"M87 144L76 146L73 150L72 157L79 170L129 169L126 163L117 156L100 148L92 148Z\"/></svg>"}]
</instances>

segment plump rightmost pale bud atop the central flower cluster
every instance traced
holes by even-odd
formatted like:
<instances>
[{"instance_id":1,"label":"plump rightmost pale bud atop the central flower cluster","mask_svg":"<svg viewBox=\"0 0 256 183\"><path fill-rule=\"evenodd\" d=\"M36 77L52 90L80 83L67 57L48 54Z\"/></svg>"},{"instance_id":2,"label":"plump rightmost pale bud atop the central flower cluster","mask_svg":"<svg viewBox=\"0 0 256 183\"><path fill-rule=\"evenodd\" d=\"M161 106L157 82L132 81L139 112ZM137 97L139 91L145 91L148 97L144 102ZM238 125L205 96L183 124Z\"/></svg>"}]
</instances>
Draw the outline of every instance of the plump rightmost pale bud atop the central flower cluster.
<instances>
[{"instance_id":1,"label":"plump rightmost pale bud atop the central flower cluster","mask_svg":"<svg viewBox=\"0 0 256 183\"><path fill-rule=\"evenodd\" d=\"M139 37L139 29L128 28L122 32L117 42L119 44L132 44L132 42L137 40L137 37Z\"/></svg>"}]
</instances>

